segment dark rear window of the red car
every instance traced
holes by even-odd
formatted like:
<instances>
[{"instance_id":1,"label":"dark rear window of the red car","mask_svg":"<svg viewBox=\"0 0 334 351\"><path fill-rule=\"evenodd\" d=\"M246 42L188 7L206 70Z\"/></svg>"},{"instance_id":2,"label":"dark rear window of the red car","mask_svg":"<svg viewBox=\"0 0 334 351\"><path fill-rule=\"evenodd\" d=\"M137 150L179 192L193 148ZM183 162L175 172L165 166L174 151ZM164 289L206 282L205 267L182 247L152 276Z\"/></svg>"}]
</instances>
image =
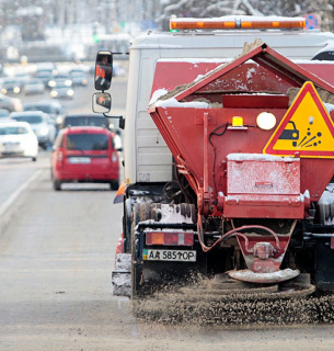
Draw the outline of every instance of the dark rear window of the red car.
<instances>
[{"instance_id":1,"label":"dark rear window of the red car","mask_svg":"<svg viewBox=\"0 0 334 351\"><path fill-rule=\"evenodd\" d=\"M105 134L69 134L66 139L68 150L107 150Z\"/></svg>"}]
</instances>

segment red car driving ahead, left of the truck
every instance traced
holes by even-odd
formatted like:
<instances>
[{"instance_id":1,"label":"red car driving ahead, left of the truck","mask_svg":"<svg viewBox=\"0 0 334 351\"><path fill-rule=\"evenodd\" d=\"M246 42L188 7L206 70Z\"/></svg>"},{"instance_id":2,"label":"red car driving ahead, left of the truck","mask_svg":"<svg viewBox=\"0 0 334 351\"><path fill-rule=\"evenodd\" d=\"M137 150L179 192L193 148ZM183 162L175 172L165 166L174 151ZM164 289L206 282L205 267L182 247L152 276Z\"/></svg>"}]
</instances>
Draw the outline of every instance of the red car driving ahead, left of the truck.
<instances>
[{"instance_id":1,"label":"red car driving ahead, left of the truck","mask_svg":"<svg viewBox=\"0 0 334 351\"><path fill-rule=\"evenodd\" d=\"M53 148L51 178L58 191L67 182L110 183L117 190L119 159L112 132L91 126L61 129Z\"/></svg>"}]
</instances>

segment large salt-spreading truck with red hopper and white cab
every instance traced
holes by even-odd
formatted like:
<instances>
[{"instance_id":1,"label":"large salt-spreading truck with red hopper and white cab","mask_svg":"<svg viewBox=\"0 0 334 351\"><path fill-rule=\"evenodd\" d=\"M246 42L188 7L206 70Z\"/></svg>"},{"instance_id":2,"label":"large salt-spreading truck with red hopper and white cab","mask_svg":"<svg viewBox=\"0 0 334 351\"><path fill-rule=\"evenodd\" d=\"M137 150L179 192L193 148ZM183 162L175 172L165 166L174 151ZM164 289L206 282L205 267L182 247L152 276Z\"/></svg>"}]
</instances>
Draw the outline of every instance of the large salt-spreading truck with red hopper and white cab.
<instances>
[{"instance_id":1,"label":"large salt-spreading truck with red hopper and white cab","mask_svg":"<svg viewBox=\"0 0 334 351\"><path fill-rule=\"evenodd\" d=\"M303 26L173 19L134 41L115 295L197 273L228 296L333 292L334 65L314 58L334 36Z\"/></svg>"}]
</instances>

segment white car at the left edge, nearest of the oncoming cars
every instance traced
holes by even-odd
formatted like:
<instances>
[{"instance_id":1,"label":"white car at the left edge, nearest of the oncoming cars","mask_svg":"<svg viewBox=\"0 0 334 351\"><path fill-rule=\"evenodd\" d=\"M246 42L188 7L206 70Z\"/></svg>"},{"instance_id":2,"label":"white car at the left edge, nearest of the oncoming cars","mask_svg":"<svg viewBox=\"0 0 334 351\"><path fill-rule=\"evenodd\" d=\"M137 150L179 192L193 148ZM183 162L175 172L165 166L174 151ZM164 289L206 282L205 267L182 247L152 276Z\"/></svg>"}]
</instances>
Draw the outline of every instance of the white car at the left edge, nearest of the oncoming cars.
<instances>
[{"instance_id":1,"label":"white car at the left edge, nearest of the oncoming cars","mask_svg":"<svg viewBox=\"0 0 334 351\"><path fill-rule=\"evenodd\" d=\"M27 122L0 124L0 158L30 157L37 160L38 140Z\"/></svg>"}]
</instances>

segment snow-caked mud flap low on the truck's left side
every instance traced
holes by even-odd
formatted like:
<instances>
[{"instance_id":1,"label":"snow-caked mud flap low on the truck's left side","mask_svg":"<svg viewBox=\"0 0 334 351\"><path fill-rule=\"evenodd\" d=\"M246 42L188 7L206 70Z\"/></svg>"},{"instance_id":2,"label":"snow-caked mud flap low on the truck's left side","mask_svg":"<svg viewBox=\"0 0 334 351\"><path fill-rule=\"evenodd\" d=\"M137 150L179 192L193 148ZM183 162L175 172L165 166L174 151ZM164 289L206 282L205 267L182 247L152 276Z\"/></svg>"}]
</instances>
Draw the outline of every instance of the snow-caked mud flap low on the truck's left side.
<instances>
[{"instance_id":1,"label":"snow-caked mud flap low on the truck's left side","mask_svg":"<svg viewBox=\"0 0 334 351\"><path fill-rule=\"evenodd\" d=\"M114 296L131 296L131 254L116 254L115 270L112 272Z\"/></svg>"}]
</instances>

